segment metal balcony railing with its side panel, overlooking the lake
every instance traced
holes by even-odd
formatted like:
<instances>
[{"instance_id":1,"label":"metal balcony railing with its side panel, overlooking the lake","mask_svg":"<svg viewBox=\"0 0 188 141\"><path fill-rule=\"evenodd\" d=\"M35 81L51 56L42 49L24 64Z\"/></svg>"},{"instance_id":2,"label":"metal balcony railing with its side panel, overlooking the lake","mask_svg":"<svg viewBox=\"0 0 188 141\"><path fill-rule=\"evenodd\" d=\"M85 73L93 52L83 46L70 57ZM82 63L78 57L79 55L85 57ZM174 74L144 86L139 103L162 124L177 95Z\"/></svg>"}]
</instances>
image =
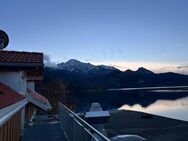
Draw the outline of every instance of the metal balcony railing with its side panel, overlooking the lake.
<instances>
[{"instance_id":1,"label":"metal balcony railing with its side panel, overlooking the lake","mask_svg":"<svg viewBox=\"0 0 188 141\"><path fill-rule=\"evenodd\" d=\"M59 122L69 141L110 141L62 103L59 103Z\"/></svg>"}]
</instances>

